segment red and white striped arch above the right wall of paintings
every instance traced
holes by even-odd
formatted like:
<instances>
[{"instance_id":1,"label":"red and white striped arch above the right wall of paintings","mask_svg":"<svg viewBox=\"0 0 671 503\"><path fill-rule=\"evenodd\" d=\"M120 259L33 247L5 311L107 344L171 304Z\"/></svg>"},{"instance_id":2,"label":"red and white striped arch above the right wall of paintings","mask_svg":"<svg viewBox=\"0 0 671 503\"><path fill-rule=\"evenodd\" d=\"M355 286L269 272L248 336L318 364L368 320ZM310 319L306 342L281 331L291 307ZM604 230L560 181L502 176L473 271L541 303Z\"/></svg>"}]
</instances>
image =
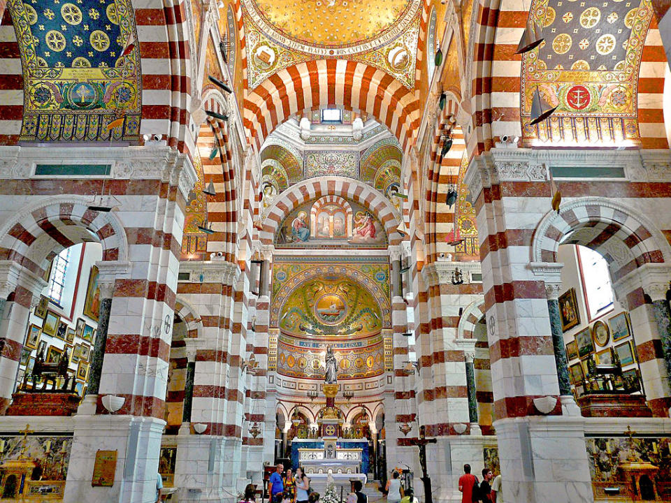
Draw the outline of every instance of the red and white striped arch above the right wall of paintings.
<instances>
[{"instance_id":1,"label":"red and white striped arch above the right wall of paintings","mask_svg":"<svg viewBox=\"0 0 671 503\"><path fill-rule=\"evenodd\" d=\"M589 238L577 230L592 228ZM628 249L628 262L617 261L619 269L611 270L617 281L644 263L671 261L671 248L661 231L647 221L640 212L612 199L584 197L561 206L559 214L551 211L543 217L534 233L531 247L532 262L556 262L559 245L584 245L596 251L609 262L614 257L607 246L619 241Z\"/></svg>"}]
</instances>

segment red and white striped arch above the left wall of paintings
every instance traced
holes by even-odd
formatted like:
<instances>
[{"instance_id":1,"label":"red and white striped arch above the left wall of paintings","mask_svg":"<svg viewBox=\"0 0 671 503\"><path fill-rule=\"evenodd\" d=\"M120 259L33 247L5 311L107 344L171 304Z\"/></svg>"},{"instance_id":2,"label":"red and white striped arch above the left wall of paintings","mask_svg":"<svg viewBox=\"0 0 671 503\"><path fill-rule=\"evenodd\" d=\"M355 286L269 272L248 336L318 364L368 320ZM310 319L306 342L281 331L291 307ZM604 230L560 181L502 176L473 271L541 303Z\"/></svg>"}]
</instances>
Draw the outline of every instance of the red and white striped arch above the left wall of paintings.
<instances>
[{"instance_id":1,"label":"red and white striped arch above the left wall of paintings","mask_svg":"<svg viewBox=\"0 0 671 503\"><path fill-rule=\"evenodd\" d=\"M85 229L103 247L103 261L128 260L124 225L114 212L88 209L90 198L45 198L15 214L0 228L0 259L13 260L36 275L43 275L63 249L82 242Z\"/></svg>"}]
</instances>

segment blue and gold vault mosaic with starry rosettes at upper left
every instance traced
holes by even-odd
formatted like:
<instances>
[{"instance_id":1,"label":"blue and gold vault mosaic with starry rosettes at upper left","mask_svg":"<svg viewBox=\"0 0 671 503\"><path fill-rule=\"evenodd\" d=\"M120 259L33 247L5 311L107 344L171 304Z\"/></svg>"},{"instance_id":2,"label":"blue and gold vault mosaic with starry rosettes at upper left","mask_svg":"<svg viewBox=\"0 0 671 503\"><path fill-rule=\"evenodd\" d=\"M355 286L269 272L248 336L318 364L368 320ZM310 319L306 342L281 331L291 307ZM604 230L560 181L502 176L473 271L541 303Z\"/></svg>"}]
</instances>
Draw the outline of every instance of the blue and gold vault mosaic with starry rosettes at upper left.
<instances>
[{"instance_id":1,"label":"blue and gold vault mosaic with starry rosettes at upper left","mask_svg":"<svg viewBox=\"0 0 671 503\"><path fill-rule=\"evenodd\" d=\"M19 139L138 140L140 54L131 2L10 0L8 7L24 77ZM108 129L117 119L122 124Z\"/></svg>"}]
</instances>

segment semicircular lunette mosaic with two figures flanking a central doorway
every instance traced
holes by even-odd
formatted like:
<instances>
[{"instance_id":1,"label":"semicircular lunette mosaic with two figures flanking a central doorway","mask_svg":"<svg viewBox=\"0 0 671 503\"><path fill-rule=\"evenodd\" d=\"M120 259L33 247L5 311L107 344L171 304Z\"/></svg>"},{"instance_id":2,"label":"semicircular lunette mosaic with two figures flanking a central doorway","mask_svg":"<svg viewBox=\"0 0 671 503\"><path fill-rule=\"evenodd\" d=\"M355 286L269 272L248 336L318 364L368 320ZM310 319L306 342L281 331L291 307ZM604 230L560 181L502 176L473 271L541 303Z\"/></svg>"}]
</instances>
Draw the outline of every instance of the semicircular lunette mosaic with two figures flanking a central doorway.
<instances>
[{"instance_id":1,"label":"semicircular lunette mosaic with two figures flanking a central doorway","mask_svg":"<svg viewBox=\"0 0 671 503\"><path fill-rule=\"evenodd\" d=\"M275 234L278 247L386 248L387 233L366 207L335 196L298 206Z\"/></svg>"}]
</instances>

